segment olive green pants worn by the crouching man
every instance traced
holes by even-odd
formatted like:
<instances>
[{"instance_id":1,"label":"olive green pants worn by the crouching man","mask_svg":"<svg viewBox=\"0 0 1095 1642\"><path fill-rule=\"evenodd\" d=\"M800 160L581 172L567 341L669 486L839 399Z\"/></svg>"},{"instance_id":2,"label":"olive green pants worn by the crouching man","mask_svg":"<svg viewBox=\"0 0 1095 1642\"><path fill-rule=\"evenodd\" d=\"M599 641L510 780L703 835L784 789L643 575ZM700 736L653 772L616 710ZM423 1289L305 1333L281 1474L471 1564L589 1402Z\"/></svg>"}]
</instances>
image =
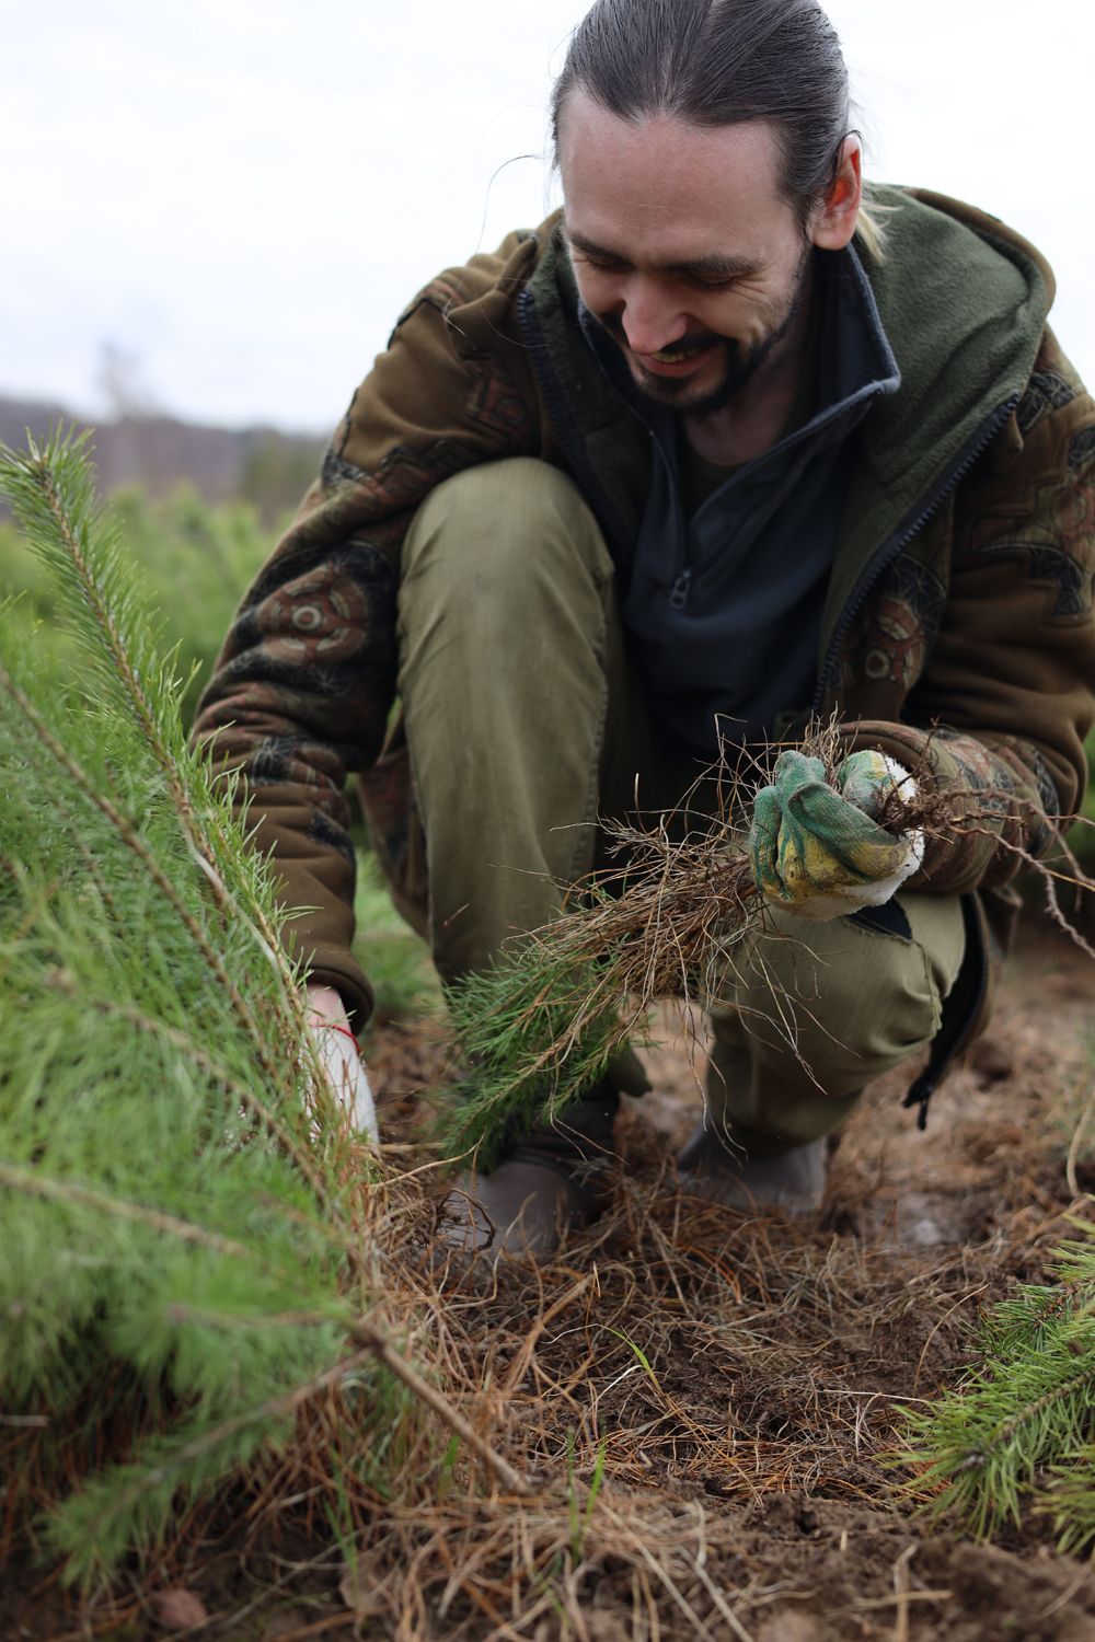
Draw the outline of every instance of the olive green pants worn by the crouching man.
<instances>
[{"instance_id":1,"label":"olive green pants worn by the crouching man","mask_svg":"<svg viewBox=\"0 0 1095 1642\"><path fill-rule=\"evenodd\" d=\"M547 923L602 860L598 818L680 805L701 765L663 744L624 650L614 568L575 484L532 458L473 468L417 512L399 693L428 934L450 980ZM954 897L901 895L908 934L773 915L711 1008L711 1115L754 1151L827 1133L923 1049L962 959Z\"/></svg>"}]
</instances>

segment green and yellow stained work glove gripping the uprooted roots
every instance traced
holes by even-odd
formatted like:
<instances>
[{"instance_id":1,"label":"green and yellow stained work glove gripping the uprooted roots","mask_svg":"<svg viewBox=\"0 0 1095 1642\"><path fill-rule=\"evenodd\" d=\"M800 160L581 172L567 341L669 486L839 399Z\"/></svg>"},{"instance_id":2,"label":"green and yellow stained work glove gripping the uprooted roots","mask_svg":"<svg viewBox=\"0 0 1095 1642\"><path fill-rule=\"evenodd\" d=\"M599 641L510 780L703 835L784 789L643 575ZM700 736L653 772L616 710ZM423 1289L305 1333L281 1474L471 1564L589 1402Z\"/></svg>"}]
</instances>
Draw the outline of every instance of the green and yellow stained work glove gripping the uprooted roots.
<instances>
[{"instance_id":1,"label":"green and yellow stained work glove gripping the uprooted roots","mask_svg":"<svg viewBox=\"0 0 1095 1642\"><path fill-rule=\"evenodd\" d=\"M924 859L921 829L895 834L875 819L895 787L916 796L913 777L883 752L854 752L832 785L819 759L781 752L749 831L765 900L814 920L888 901Z\"/></svg>"}]
</instances>

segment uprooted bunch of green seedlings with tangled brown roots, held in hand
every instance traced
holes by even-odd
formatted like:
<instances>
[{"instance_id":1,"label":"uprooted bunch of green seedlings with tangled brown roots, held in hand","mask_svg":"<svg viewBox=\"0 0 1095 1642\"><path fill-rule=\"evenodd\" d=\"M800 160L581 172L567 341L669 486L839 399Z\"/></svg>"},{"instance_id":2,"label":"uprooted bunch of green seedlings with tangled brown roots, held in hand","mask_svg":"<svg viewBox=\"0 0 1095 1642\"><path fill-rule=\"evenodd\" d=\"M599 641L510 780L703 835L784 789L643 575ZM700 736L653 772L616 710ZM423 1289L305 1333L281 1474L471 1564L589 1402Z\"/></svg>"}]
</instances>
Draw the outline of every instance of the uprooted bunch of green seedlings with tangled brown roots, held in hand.
<instances>
[{"instance_id":1,"label":"uprooted bunch of green seedlings with tangled brown roots, held in hand","mask_svg":"<svg viewBox=\"0 0 1095 1642\"><path fill-rule=\"evenodd\" d=\"M831 780L847 757L836 721L795 745ZM678 810L647 824L601 823L612 865L571 890L560 916L512 943L494 969L450 992L470 1067L443 1125L451 1154L474 1153L489 1167L515 1130L537 1117L555 1121L642 1038L655 1000L717 995L749 944L775 938L745 841L752 800L781 750L772 744L745 765L721 759ZM918 782L913 796L895 790L878 819L931 836L952 805L954 795Z\"/></svg>"}]
</instances>

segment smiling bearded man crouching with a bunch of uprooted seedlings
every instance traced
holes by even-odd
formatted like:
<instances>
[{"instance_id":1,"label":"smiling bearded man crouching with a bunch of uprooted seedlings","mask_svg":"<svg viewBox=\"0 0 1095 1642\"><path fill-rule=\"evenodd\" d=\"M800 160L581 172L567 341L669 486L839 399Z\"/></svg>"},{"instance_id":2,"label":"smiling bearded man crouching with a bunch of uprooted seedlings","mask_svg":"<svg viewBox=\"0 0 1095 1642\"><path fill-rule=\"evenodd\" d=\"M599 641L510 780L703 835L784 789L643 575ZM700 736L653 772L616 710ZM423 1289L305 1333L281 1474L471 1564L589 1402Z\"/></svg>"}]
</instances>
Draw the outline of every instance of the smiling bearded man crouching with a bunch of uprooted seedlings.
<instances>
[{"instance_id":1,"label":"smiling bearded man crouching with a bunch of uprooted seedlings","mask_svg":"<svg viewBox=\"0 0 1095 1642\"><path fill-rule=\"evenodd\" d=\"M402 315L199 734L315 908L291 934L338 1026L369 1008L346 770L451 980L552 916L598 816L836 713L839 793L791 752L757 800L778 939L712 1007L680 1159L804 1210L864 1085L929 1049L923 1113L985 1020L1010 880L1082 790L1095 406L1024 240L934 195L865 213L816 0L598 0L553 117L561 218ZM944 824L880 841L895 783ZM450 1236L543 1251L593 1218L622 1084L463 1177Z\"/></svg>"}]
</instances>

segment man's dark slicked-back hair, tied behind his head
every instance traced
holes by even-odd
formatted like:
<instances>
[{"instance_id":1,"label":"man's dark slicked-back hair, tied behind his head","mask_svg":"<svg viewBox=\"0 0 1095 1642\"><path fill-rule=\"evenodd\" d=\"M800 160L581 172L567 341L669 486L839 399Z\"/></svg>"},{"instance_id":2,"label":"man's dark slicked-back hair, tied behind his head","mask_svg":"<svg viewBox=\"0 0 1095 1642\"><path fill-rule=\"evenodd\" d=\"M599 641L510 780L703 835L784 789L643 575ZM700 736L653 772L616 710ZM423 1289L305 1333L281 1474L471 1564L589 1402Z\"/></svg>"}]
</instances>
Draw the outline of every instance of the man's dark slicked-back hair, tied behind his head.
<instances>
[{"instance_id":1,"label":"man's dark slicked-back hair, tied behind his head","mask_svg":"<svg viewBox=\"0 0 1095 1642\"><path fill-rule=\"evenodd\" d=\"M772 122L803 220L836 179L849 135L844 54L818 0L596 0L552 94L557 156L575 87L622 120Z\"/></svg>"}]
</instances>

